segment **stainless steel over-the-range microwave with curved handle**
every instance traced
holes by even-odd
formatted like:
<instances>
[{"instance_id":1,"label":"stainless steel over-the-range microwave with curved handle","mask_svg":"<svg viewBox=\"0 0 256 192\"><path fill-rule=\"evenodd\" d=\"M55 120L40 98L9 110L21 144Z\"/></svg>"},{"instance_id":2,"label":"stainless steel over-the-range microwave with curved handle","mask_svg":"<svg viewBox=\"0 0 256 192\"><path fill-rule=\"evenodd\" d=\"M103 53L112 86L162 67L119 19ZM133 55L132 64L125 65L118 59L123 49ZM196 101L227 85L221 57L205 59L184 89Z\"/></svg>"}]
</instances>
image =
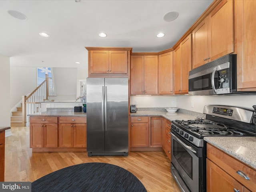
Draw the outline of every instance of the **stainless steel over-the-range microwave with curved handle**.
<instances>
[{"instance_id":1,"label":"stainless steel over-the-range microwave with curved handle","mask_svg":"<svg viewBox=\"0 0 256 192\"><path fill-rule=\"evenodd\" d=\"M188 94L236 93L236 54L228 54L189 72Z\"/></svg>"}]
</instances>

